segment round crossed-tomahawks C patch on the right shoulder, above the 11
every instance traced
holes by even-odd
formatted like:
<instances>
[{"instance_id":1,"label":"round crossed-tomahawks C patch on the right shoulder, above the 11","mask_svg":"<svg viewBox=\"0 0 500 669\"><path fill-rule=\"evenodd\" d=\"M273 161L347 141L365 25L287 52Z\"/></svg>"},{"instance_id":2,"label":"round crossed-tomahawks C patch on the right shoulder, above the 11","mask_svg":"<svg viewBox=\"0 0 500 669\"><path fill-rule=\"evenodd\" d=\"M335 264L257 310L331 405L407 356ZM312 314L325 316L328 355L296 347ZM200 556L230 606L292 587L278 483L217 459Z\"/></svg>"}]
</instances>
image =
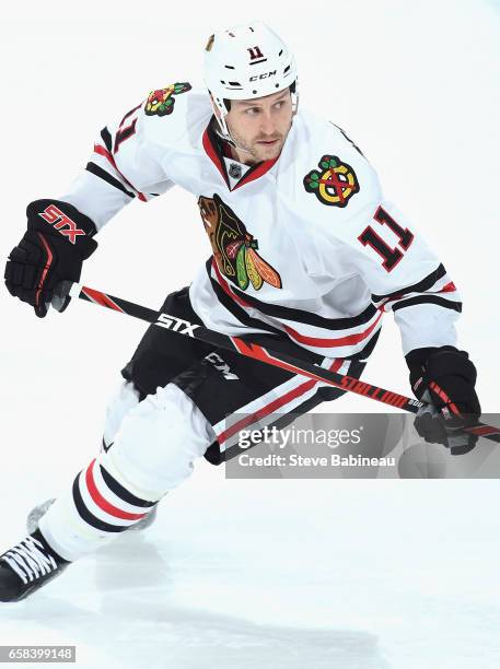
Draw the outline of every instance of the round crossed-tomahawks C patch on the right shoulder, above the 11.
<instances>
[{"instance_id":1,"label":"round crossed-tomahawks C patch on the right shoulder, above the 11","mask_svg":"<svg viewBox=\"0 0 500 669\"><path fill-rule=\"evenodd\" d=\"M314 192L323 204L346 207L359 191L358 177L352 167L336 155L324 155L317 165L319 171L313 169L304 177L305 190Z\"/></svg>"}]
</instances>

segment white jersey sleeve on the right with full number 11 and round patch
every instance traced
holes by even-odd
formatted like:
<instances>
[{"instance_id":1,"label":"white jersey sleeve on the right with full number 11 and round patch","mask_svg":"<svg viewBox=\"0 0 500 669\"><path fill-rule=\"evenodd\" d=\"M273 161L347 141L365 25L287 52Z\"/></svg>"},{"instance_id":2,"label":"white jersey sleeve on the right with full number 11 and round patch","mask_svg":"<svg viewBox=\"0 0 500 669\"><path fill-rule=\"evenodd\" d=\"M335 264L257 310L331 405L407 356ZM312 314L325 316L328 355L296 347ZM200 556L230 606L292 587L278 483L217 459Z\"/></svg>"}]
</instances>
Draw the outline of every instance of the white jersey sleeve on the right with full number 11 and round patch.
<instances>
[{"instance_id":1,"label":"white jersey sleeve on the right with full number 11 and round patch","mask_svg":"<svg viewBox=\"0 0 500 669\"><path fill-rule=\"evenodd\" d=\"M344 136L336 153L316 165L304 178L301 200L302 207L307 201L326 271L338 272L340 265L342 274L362 278L375 307L393 312L405 355L455 345L458 292L412 223L384 199L359 149Z\"/></svg>"}]
</instances>

